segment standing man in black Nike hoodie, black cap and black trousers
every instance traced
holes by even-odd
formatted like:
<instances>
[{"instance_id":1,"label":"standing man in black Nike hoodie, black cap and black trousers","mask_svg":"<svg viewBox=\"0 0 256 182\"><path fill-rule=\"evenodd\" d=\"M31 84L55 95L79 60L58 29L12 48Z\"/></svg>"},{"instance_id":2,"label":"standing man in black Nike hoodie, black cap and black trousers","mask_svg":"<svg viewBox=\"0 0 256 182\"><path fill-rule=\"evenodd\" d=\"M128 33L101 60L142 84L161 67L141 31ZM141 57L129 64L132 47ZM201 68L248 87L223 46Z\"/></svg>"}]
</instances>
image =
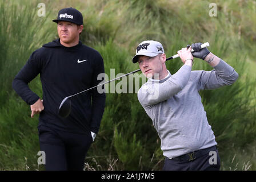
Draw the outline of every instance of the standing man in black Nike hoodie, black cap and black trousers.
<instances>
[{"instance_id":1,"label":"standing man in black Nike hoodie, black cap and black trousers","mask_svg":"<svg viewBox=\"0 0 256 182\"><path fill-rule=\"evenodd\" d=\"M13 80L13 89L30 105L31 117L39 114L39 143L46 154L46 170L82 170L86 153L99 130L106 96L97 89L72 99L67 118L58 115L66 96L98 85L104 73L102 56L79 41L82 14L62 9L56 22L59 39L34 51ZM29 82L40 74L43 100Z\"/></svg>"}]
</instances>

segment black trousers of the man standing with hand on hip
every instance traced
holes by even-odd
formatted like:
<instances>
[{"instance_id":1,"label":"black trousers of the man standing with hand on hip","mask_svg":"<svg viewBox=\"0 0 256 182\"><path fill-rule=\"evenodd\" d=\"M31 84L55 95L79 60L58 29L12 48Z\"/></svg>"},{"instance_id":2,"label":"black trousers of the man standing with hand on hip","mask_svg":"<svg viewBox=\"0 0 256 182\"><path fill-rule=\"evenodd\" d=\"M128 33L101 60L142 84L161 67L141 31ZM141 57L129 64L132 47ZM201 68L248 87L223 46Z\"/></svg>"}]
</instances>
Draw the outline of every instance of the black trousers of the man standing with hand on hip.
<instances>
[{"instance_id":1,"label":"black trousers of the man standing with hand on hip","mask_svg":"<svg viewBox=\"0 0 256 182\"><path fill-rule=\"evenodd\" d=\"M93 138L91 133L75 134L39 126L40 150L45 152L47 171L83 170Z\"/></svg>"}]
</instances>

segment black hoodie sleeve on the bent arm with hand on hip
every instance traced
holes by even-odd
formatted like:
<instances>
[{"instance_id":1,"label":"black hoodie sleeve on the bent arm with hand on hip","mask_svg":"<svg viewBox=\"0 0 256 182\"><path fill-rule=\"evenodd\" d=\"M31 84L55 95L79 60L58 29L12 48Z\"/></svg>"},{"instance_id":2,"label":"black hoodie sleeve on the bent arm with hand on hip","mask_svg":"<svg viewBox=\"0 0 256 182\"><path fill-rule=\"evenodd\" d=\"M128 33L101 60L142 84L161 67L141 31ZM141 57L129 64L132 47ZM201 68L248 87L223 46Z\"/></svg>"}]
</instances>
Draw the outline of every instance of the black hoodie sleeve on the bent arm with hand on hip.
<instances>
[{"instance_id":1,"label":"black hoodie sleeve on the bent arm with hand on hip","mask_svg":"<svg viewBox=\"0 0 256 182\"><path fill-rule=\"evenodd\" d=\"M13 80L13 89L28 105L33 105L39 99L39 96L32 92L28 85L40 73L41 67L35 57L35 52L33 52Z\"/></svg>"}]
</instances>

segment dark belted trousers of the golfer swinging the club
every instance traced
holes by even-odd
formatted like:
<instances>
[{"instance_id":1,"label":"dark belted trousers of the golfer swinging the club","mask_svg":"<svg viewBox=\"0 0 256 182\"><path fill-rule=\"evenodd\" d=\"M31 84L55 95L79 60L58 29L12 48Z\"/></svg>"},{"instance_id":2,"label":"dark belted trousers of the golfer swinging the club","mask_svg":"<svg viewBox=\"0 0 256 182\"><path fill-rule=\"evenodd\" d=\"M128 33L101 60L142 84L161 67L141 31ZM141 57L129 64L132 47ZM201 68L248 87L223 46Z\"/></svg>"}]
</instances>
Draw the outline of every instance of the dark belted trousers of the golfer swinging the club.
<instances>
[{"instance_id":1,"label":"dark belted trousers of the golfer swinging the club","mask_svg":"<svg viewBox=\"0 0 256 182\"><path fill-rule=\"evenodd\" d=\"M177 158L165 158L164 171L219 171L221 159L216 146Z\"/></svg>"}]
</instances>

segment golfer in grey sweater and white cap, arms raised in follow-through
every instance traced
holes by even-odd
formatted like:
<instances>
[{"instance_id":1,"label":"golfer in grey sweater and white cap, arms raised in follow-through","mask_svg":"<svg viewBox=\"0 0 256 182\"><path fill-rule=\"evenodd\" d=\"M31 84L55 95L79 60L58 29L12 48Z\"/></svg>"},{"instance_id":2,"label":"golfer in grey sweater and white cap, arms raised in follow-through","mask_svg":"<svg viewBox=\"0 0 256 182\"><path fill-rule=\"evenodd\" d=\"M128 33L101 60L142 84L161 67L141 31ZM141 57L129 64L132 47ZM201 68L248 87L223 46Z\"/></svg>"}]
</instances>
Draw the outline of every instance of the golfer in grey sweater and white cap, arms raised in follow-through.
<instances>
[{"instance_id":1,"label":"golfer in grey sweater and white cap, arms raised in follow-through","mask_svg":"<svg viewBox=\"0 0 256 182\"><path fill-rule=\"evenodd\" d=\"M219 170L217 142L206 117L199 90L217 89L237 80L225 61L201 49L202 43L178 51L184 65L173 75L166 69L162 44L139 44L133 63L149 80L138 91L138 100L161 138L163 170ZM191 48L195 52L191 53ZM193 58L205 60L212 71L191 71Z\"/></svg>"}]
</instances>

